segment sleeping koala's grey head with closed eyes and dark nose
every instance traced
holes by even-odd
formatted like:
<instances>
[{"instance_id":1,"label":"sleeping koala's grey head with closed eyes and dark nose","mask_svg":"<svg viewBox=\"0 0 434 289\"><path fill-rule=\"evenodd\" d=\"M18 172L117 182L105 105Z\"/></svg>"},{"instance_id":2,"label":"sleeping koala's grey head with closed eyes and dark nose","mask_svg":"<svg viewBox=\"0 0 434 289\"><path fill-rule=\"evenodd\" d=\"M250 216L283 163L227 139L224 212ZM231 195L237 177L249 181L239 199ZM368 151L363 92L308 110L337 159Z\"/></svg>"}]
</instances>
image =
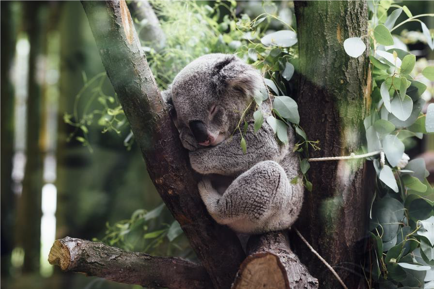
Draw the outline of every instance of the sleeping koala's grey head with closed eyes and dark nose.
<instances>
[{"instance_id":1,"label":"sleeping koala's grey head with closed eyes and dark nose","mask_svg":"<svg viewBox=\"0 0 434 289\"><path fill-rule=\"evenodd\" d=\"M188 64L164 92L184 147L214 146L228 138L262 85L259 72L232 54L208 54Z\"/></svg>"}]
</instances>

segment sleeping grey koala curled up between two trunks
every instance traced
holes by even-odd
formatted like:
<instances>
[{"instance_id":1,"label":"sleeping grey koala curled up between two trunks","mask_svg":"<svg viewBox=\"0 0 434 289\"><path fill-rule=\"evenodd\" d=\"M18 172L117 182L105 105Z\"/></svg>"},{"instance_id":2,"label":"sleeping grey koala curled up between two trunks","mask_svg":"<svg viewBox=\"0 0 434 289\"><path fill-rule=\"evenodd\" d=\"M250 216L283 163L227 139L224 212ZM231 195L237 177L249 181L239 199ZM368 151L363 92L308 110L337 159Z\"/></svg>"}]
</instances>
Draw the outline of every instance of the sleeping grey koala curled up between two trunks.
<instances>
[{"instance_id":1,"label":"sleeping grey koala curled up between two trunks","mask_svg":"<svg viewBox=\"0 0 434 289\"><path fill-rule=\"evenodd\" d=\"M293 129L288 128L288 144L279 142L266 122L254 132L253 96L263 85L251 65L217 53L188 64L163 92L190 164L202 175L198 187L208 212L217 223L242 234L289 228L303 202L303 186L290 183L299 175ZM244 153L237 127L249 104ZM266 119L270 101L258 109Z\"/></svg>"}]
</instances>

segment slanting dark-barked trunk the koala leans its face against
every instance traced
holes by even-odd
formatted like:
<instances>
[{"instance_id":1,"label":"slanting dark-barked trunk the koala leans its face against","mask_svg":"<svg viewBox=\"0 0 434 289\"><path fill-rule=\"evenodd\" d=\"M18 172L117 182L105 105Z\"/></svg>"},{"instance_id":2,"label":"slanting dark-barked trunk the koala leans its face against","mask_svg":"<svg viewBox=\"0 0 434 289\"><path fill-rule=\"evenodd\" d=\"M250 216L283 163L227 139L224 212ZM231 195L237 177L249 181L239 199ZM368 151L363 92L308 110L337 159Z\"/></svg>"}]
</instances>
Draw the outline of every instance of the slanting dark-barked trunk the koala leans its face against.
<instances>
[{"instance_id":1,"label":"slanting dark-barked trunk the koala leans its face against","mask_svg":"<svg viewBox=\"0 0 434 289\"><path fill-rule=\"evenodd\" d=\"M202 204L197 178L140 49L125 1L81 3L158 193L180 223L214 286L229 288L245 254L236 235L217 225Z\"/></svg>"}]
</instances>

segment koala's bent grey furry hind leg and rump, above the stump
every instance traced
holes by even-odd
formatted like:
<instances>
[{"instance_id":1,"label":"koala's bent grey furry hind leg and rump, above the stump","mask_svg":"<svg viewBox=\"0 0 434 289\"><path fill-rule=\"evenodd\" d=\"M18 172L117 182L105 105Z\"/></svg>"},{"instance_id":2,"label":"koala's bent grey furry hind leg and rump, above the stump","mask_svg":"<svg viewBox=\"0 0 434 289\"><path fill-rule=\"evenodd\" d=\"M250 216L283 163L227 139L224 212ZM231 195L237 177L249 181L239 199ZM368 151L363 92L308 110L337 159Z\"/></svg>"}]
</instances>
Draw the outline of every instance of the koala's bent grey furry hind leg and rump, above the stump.
<instances>
[{"instance_id":1,"label":"koala's bent grey furry hind leg and rump, above the stump","mask_svg":"<svg viewBox=\"0 0 434 289\"><path fill-rule=\"evenodd\" d=\"M301 209L303 188L292 185L275 161L261 161L237 177L223 195L208 178L199 192L219 224L242 233L262 233L291 226Z\"/></svg>"}]
</instances>

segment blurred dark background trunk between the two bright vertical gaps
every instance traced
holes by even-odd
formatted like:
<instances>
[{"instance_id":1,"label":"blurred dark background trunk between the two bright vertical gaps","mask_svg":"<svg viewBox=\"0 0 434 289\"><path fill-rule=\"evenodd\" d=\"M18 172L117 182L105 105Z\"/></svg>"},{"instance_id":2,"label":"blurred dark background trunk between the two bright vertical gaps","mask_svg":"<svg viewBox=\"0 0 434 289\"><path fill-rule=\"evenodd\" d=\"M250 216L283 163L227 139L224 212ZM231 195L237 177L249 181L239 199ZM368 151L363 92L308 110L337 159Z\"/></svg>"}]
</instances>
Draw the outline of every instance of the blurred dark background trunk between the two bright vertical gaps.
<instances>
[{"instance_id":1,"label":"blurred dark background trunk between the two bright vertical gaps","mask_svg":"<svg viewBox=\"0 0 434 289\"><path fill-rule=\"evenodd\" d=\"M23 272L39 269L41 235L42 152L40 128L42 112L41 86L37 75L37 61L41 53L41 3L25 3L25 29L29 37L29 82L27 99L26 168L20 202L18 224L24 249Z\"/></svg>"}]
</instances>

